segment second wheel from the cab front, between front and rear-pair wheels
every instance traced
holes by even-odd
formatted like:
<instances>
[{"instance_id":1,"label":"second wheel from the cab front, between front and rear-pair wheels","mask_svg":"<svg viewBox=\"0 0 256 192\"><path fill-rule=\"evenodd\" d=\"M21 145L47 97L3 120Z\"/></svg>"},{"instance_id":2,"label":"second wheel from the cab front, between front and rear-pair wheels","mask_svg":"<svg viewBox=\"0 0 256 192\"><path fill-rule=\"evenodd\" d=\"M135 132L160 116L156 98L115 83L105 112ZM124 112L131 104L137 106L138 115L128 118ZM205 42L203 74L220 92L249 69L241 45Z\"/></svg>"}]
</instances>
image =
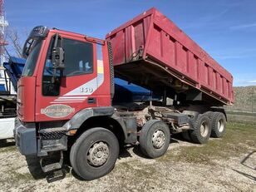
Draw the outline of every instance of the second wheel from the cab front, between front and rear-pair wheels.
<instances>
[{"instance_id":1,"label":"second wheel from the cab front, between front and rear-pair wheels","mask_svg":"<svg viewBox=\"0 0 256 192\"><path fill-rule=\"evenodd\" d=\"M151 120L145 123L140 134L140 150L144 155L152 159L160 157L169 145L170 129L163 121Z\"/></svg>"}]
</instances>

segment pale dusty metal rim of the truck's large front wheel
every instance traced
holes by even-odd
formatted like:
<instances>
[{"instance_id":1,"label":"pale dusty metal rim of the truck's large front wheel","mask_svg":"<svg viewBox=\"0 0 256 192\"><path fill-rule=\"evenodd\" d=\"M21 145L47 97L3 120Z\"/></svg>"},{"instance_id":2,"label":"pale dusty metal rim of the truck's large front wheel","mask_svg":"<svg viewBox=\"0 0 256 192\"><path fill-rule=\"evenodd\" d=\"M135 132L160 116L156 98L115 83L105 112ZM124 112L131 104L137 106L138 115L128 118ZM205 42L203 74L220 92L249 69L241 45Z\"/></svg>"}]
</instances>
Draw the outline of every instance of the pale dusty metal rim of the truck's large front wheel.
<instances>
[{"instance_id":1,"label":"pale dusty metal rim of the truck's large front wheel","mask_svg":"<svg viewBox=\"0 0 256 192\"><path fill-rule=\"evenodd\" d=\"M91 145L87 152L87 161L90 165L99 167L106 163L110 150L106 142L99 141Z\"/></svg>"}]
</instances>

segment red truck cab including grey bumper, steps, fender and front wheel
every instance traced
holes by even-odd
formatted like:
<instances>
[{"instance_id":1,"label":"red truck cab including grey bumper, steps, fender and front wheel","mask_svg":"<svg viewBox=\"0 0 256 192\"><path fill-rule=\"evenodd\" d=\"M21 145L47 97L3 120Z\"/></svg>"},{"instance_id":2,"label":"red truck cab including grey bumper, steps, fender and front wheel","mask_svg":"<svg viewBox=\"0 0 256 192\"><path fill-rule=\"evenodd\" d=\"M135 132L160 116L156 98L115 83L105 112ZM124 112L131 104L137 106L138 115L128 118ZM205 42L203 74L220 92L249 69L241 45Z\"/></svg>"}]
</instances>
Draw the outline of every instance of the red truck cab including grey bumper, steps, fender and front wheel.
<instances>
[{"instance_id":1,"label":"red truck cab including grey bumper, steps, fender and front wheel","mask_svg":"<svg viewBox=\"0 0 256 192\"><path fill-rule=\"evenodd\" d=\"M43 171L61 169L62 151L71 150L91 128L86 136L97 139L86 148L86 165L92 170L103 166L103 171L79 174L89 180L111 170L119 141L136 141L135 117L117 116L111 106L114 75L110 53L111 45L104 40L56 28L32 29L23 48L27 62L17 83L14 135L22 155L41 157ZM78 146L72 148L76 155L71 164L78 172L76 160L81 154ZM44 157L55 152L60 154L59 162L43 165Z\"/></svg>"}]
</instances>

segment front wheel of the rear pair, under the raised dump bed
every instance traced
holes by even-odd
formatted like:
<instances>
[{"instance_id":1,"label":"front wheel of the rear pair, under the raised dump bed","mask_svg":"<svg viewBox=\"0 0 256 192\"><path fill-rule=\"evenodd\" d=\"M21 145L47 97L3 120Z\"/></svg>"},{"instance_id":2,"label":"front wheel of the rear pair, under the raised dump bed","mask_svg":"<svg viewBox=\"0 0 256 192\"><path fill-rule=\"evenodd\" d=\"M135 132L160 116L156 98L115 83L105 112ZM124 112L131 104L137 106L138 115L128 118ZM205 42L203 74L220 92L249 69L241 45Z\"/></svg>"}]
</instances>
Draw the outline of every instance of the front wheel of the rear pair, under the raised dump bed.
<instances>
[{"instance_id":1,"label":"front wheel of the rear pair, under the raised dump bed","mask_svg":"<svg viewBox=\"0 0 256 192\"><path fill-rule=\"evenodd\" d=\"M209 117L205 114L200 114L194 121L194 130L191 130L190 137L194 143L204 144L209 140L211 134L211 126Z\"/></svg>"}]
</instances>

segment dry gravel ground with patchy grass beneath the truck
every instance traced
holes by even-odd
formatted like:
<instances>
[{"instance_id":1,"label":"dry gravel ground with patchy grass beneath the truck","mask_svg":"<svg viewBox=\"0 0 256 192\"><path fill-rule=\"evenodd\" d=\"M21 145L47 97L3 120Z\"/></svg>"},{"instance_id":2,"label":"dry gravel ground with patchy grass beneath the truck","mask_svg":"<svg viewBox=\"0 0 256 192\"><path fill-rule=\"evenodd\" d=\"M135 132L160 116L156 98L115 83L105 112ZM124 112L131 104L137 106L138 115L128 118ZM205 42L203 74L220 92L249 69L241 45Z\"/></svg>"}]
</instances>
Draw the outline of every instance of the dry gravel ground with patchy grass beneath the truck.
<instances>
[{"instance_id":1,"label":"dry gravel ground with patchy grass beneath the truck","mask_svg":"<svg viewBox=\"0 0 256 192\"><path fill-rule=\"evenodd\" d=\"M14 141L0 145L0 191L256 191L256 126L229 124L223 139L195 145L176 135L167 153L146 159L139 146L121 150L110 174L80 180L66 165L62 180L47 182L35 158Z\"/></svg>"}]
</instances>

